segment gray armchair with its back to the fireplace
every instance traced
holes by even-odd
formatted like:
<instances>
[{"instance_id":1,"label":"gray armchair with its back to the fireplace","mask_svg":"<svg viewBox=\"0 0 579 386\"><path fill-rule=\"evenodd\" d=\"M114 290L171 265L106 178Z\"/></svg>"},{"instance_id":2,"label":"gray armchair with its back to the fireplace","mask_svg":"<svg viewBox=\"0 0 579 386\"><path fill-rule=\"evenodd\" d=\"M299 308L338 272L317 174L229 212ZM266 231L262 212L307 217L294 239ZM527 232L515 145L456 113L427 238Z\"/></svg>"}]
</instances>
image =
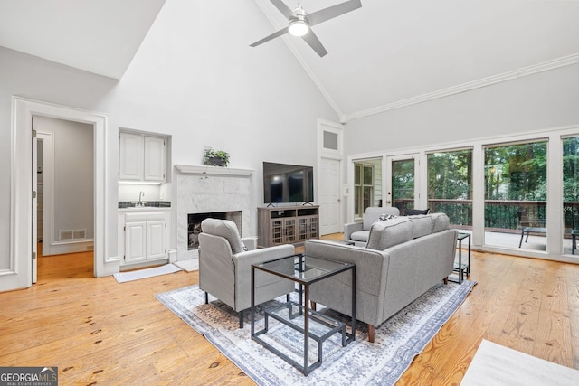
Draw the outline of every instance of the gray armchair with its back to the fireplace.
<instances>
[{"instance_id":1,"label":"gray armchair with its back to the fireplace","mask_svg":"<svg viewBox=\"0 0 579 386\"><path fill-rule=\"evenodd\" d=\"M199 288L217 297L239 312L243 328L243 311L252 306L252 264L280 259L295 253L293 245L255 249L254 239L242 239L233 221L205 219L199 234ZM285 260L282 263L286 263ZM287 259L288 269L294 269ZM288 295L293 282L256 271L255 304Z\"/></svg>"}]
</instances>

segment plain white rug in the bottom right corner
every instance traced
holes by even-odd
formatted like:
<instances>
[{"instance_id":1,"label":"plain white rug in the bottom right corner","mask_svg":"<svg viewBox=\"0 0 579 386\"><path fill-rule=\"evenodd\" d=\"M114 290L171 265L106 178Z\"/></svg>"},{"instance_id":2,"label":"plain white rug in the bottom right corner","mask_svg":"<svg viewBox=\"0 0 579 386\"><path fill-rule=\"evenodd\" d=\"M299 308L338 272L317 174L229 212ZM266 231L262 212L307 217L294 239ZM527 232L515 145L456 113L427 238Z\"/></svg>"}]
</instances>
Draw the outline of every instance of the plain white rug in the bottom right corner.
<instances>
[{"instance_id":1,"label":"plain white rug in the bottom right corner","mask_svg":"<svg viewBox=\"0 0 579 386\"><path fill-rule=\"evenodd\" d=\"M579 371L483 339L460 384L577 386Z\"/></svg>"}]
</instances>

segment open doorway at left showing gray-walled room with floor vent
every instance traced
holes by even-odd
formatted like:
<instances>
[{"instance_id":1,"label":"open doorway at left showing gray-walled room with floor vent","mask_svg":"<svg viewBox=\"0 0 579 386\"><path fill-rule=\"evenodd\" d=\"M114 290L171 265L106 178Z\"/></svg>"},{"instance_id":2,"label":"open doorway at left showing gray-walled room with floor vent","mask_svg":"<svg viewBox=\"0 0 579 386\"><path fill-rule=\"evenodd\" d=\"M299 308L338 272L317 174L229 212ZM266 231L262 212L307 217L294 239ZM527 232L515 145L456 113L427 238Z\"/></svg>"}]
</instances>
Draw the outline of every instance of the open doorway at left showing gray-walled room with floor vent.
<instances>
[{"instance_id":1,"label":"open doorway at left showing gray-walled room with floor vent","mask_svg":"<svg viewBox=\"0 0 579 386\"><path fill-rule=\"evenodd\" d=\"M41 259L79 252L92 254L93 126L33 116L33 130L36 133L33 138L38 208L36 240L39 240L36 255Z\"/></svg>"}]
</instances>

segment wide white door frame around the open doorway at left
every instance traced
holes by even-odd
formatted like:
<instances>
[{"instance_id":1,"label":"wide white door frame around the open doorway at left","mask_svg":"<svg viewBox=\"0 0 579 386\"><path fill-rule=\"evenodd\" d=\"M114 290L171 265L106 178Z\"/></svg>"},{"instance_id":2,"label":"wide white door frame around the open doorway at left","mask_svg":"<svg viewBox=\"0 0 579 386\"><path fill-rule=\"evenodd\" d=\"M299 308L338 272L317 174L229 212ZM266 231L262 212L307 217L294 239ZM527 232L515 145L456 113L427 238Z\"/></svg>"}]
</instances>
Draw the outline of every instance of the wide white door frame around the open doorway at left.
<instances>
[{"instance_id":1,"label":"wide white door frame around the open doorway at left","mask_svg":"<svg viewBox=\"0 0 579 386\"><path fill-rule=\"evenodd\" d=\"M93 125L94 146L94 276L119 271L119 257L110 257L109 115L12 97L9 267L0 271L0 291L32 286L32 121L45 116Z\"/></svg>"}]
</instances>

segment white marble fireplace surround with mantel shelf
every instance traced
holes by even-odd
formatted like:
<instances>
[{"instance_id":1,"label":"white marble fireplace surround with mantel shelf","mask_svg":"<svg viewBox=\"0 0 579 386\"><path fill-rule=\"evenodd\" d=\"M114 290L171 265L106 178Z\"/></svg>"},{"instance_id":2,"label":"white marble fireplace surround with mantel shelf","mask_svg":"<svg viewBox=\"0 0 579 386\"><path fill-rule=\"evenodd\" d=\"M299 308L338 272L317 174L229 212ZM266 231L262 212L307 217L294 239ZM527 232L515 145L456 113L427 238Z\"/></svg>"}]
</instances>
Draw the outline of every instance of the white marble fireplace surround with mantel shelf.
<instances>
[{"instance_id":1,"label":"white marble fireplace surround with mantel shelf","mask_svg":"<svg viewBox=\"0 0 579 386\"><path fill-rule=\"evenodd\" d=\"M202 165L175 165L175 168L177 261L199 258L197 249L188 250L189 213L241 211L243 233L253 229L254 170Z\"/></svg>"}]
</instances>

